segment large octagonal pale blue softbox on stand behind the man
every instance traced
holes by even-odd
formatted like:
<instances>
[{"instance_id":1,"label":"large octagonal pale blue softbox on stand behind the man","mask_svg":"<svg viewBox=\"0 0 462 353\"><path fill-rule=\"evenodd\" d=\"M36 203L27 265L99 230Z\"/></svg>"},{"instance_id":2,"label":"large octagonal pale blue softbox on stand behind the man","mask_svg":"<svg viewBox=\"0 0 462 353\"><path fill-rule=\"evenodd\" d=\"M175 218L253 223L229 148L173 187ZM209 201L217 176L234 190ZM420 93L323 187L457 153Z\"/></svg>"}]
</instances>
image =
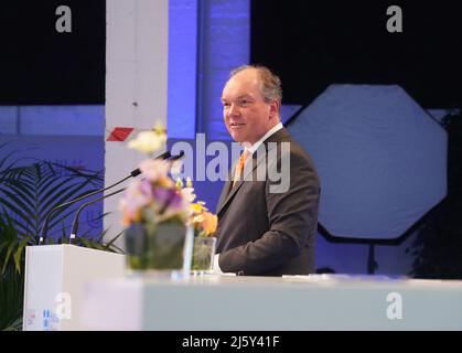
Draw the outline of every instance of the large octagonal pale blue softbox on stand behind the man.
<instances>
[{"instance_id":1,"label":"large octagonal pale blue softbox on stand behind the man","mask_svg":"<svg viewBox=\"0 0 462 353\"><path fill-rule=\"evenodd\" d=\"M447 132L399 86L331 85L288 128L314 160L332 236L395 239L445 196Z\"/></svg>"}]
</instances>

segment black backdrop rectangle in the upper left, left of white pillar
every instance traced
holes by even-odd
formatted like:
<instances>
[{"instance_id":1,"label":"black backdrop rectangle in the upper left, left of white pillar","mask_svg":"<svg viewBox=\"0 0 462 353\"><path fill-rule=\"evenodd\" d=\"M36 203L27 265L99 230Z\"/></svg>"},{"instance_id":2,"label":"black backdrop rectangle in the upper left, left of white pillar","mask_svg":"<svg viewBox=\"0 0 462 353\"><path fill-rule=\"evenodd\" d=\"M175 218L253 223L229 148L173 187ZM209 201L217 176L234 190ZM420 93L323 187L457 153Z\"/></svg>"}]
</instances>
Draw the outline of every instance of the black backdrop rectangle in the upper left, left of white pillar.
<instances>
[{"instance_id":1,"label":"black backdrop rectangle in the upper left, left of white pillar","mask_svg":"<svg viewBox=\"0 0 462 353\"><path fill-rule=\"evenodd\" d=\"M72 10L72 32L55 29ZM104 104L106 1L8 0L0 4L0 105Z\"/></svg>"}]
</instances>

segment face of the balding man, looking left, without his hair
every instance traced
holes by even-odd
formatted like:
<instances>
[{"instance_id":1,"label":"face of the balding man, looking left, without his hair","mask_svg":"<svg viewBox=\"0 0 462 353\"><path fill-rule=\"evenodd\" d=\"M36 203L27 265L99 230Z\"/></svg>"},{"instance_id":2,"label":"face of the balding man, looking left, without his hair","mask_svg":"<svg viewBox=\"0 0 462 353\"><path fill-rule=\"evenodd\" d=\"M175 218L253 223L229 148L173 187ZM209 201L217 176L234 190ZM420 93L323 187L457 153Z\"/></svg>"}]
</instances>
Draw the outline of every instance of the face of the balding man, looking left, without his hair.
<instances>
[{"instance_id":1,"label":"face of the balding man, looking left, without his hair","mask_svg":"<svg viewBox=\"0 0 462 353\"><path fill-rule=\"evenodd\" d=\"M268 104L259 89L258 72L244 69L226 83L222 94L223 117L237 142L257 142L277 122L278 103Z\"/></svg>"}]
</instances>

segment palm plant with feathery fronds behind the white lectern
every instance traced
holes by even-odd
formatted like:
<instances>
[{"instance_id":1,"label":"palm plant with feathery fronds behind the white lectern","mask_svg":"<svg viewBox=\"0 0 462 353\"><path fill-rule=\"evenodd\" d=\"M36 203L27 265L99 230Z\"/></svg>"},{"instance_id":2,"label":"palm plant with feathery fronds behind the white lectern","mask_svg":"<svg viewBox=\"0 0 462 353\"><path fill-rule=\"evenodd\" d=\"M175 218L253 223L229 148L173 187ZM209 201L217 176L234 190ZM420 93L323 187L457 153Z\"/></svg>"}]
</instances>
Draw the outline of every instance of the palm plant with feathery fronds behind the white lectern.
<instances>
[{"instance_id":1,"label":"palm plant with feathery fronds behind the white lectern","mask_svg":"<svg viewBox=\"0 0 462 353\"><path fill-rule=\"evenodd\" d=\"M74 170L56 163L35 161L19 165L14 149L1 145L0 158L0 330L22 328L25 247L39 243L46 214L74 197L100 189L100 172ZM54 236L50 243L66 242L68 222L74 210L63 207L50 220ZM117 250L114 240L103 244L83 234L77 245Z\"/></svg>"}]
</instances>

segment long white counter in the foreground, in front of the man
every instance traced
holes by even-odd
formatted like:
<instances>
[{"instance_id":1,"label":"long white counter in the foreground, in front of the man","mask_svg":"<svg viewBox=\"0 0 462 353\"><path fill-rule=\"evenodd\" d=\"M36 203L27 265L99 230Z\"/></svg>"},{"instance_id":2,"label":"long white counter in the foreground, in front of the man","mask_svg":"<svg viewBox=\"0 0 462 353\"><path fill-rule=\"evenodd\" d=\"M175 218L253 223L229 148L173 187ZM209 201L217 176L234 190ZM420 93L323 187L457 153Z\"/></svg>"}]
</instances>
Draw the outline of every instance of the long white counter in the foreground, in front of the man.
<instances>
[{"instance_id":1,"label":"long white counter in the foreground, in front of the man","mask_svg":"<svg viewBox=\"0 0 462 353\"><path fill-rule=\"evenodd\" d=\"M89 330L462 330L462 281L207 275L88 282Z\"/></svg>"}]
</instances>

